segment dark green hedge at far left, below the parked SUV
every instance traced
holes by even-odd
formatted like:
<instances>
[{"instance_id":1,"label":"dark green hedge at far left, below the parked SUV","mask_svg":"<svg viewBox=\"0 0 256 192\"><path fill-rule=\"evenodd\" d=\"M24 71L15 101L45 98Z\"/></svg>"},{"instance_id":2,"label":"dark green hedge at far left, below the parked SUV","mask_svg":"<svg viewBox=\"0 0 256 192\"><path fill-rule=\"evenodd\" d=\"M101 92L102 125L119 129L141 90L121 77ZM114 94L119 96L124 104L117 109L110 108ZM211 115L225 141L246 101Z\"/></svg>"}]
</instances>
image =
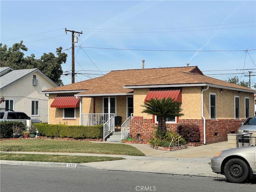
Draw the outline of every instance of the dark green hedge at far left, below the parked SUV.
<instances>
[{"instance_id":1,"label":"dark green hedge at far left, below the parked SUV","mask_svg":"<svg viewBox=\"0 0 256 192\"><path fill-rule=\"evenodd\" d=\"M12 138L13 132L21 132L26 126L21 121L0 121L0 138ZM16 129L15 129L16 128Z\"/></svg>"}]
</instances>

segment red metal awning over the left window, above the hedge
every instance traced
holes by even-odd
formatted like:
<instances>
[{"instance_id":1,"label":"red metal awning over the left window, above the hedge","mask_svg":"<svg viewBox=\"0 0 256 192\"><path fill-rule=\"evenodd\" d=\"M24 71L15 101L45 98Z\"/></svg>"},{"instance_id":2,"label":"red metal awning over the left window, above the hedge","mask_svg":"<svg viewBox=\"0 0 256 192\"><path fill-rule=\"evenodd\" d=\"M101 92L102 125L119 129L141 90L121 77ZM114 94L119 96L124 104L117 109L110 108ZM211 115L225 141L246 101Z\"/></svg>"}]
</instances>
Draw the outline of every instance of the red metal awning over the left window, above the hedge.
<instances>
[{"instance_id":1,"label":"red metal awning over the left window, above the hedge","mask_svg":"<svg viewBox=\"0 0 256 192\"><path fill-rule=\"evenodd\" d=\"M80 97L78 97L80 98ZM57 95L53 100L51 107L55 108L77 108L79 100L74 95Z\"/></svg>"}]
</instances>

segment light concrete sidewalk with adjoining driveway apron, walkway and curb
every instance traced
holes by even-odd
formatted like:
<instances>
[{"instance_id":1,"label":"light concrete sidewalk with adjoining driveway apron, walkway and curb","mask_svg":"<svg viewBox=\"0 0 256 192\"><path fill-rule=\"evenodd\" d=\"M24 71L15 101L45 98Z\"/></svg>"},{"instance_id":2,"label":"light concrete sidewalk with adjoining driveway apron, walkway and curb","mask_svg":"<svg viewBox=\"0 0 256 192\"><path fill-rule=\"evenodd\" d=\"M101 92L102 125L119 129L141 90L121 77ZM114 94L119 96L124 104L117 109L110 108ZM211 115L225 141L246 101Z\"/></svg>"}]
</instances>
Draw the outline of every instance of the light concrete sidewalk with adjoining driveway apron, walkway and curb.
<instances>
[{"instance_id":1,"label":"light concrete sidewalk with adjoining driveway apron, walkway and curb","mask_svg":"<svg viewBox=\"0 0 256 192\"><path fill-rule=\"evenodd\" d=\"M116 143L120 144L120 143ZM212 172L210 160L220 150L228 149L227 142L208 144L204 146L189 147L177 151L160 151L148 147L146 144L129 144L138 148L146 156L124 156L106 154L81 154L81 153L42 153L42 152L3 152L26 154L61 154L84 156L112 156L123 157L125 160L91 162L76 164L77 169L97 169L132 172L150 172L160 174L177 174L190 176L205 176L225 178L225 176ZM70 162L72 163L72 162ZM1 165L16 166L42 166L66 168L67 163L54 162L24 162L1 160Z\"/></svg>"}]
</instances>

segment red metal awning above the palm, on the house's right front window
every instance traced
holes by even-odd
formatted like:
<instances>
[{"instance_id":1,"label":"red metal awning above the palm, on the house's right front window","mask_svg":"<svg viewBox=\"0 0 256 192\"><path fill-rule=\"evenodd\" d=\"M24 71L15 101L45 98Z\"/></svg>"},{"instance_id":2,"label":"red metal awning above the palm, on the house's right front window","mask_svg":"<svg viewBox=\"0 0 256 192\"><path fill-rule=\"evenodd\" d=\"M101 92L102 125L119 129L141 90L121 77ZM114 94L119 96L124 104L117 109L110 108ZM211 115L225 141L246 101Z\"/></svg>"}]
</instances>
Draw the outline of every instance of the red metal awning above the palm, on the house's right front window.
<instances>
[{"instance_id":1,"label":"red metal awning above the palm, on the house's right front window","mask_svg":"<svg viewBox=\"0 0 256 192\"><path fill-rule=\"evenodd\" d=\"M151 98L162 99L162 98L168 98L168 97L175 99L178 102L182 102L180 90L181 90L180 88L152 88L148 91L148 94L144 102L146 102L146 100L150 100Z\"/></svg>"}]
</instances>

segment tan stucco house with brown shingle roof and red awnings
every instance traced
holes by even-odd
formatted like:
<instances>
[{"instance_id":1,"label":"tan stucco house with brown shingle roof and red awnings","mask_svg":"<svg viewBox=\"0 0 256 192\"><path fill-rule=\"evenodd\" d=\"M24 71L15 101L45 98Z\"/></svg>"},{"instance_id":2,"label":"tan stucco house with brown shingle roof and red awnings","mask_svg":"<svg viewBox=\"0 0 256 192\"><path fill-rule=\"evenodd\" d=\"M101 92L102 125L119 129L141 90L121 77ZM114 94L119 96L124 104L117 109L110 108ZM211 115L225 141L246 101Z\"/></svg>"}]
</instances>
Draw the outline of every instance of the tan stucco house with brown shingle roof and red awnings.
<instances>
[{"instance_id":1,"label":"tan stucco house with brown shingle roof and red awnings","mask_svg":"<svg viewBox=\"0 0 256 192\"><path fill-rule=\"evenodd\" d=\"M114 116L122 116L122 133L128 130L144 143L152 137L157 118L142 113L142 105L150 98L172 97L182 102L184 116L168 118L168 129L175 131L180 123L198 124L201 142L209 144L227 140L241 121L254 115L256 90L204 76L197 66L187 66L111 71L42 93L49 94L49 124L104 124L105 138L114 132Z\"/></svg>"}]
</instances>

